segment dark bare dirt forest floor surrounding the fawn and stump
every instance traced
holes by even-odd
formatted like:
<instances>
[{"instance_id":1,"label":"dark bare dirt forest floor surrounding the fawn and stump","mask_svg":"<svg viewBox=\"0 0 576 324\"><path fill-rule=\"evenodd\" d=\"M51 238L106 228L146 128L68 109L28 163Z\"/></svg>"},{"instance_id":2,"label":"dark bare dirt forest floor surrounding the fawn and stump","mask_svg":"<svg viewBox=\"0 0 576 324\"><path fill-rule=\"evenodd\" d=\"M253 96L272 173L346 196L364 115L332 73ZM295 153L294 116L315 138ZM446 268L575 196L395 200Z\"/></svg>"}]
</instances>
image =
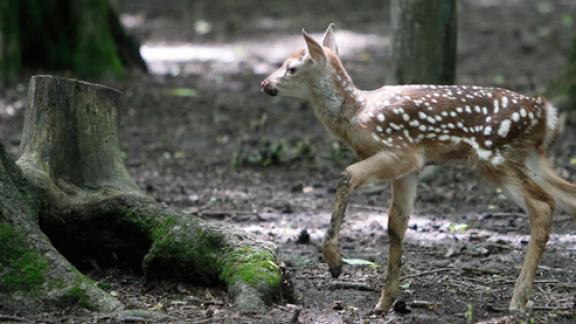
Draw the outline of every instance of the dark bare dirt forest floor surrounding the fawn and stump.
<instances>
[{"instance_id":1,"label":"dark bare dirt forest floor surrounding the fawn and stump","mask_svg":"<svg viewBox=\"0 0 576 324\"><path fill-rule=\"evenodd\" d=\"M458 166L423 175L419 186L402 268L400 300L408 312L368 315L388 254L385 184L355 194L343 229L345 257L374 264L347 265L340 279L330 277L318 246L336 181L354 157L328 136L310 107L267 97L259 82L303 45L300 28L321 33L335 22L344 64L357 86L384 84L387 1L123 0L118 7L154 72L106 82L124 91L120 140L129 171L158 201L275 242L294 285L292 294L266 312L241 315L219 288L89 270L128 307L193 323L576 321L576 223L557 215L533 307L510 314L506 308L526 250L528 221L498 189ZM575 19L572 0L460 1L458 83L545 92L562 73ZM26 88L23 78L0 93L0 141L14 157ZM574 125L564 128L552 157L559 172L576 181ZM74 311L13 315L50 323L145 319Z\"/></svg>"}]
</instances>

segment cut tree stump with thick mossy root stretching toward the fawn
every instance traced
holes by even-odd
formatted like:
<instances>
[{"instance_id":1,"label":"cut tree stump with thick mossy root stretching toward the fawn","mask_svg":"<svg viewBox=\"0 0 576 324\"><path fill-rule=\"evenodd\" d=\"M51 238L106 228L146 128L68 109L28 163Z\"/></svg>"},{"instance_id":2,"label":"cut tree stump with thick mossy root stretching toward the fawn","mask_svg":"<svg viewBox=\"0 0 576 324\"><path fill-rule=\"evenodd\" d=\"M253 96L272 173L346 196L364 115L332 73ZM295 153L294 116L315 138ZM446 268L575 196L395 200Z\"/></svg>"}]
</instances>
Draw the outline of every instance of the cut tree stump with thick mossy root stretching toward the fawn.
<instances>
[{"instance_id":1,"label":"cut tree stump with thick mossy root stretching toward the fawn","mask_svg":"<svg viewBox=\"0 0 576 324\"><path fill-rule=\"evenodd\" d=\"M29 208L29 216L21 213L14 221L0 219L0 225L14 227L22 237L28 237L27 229L44 238L46 234L80 269L92 259L103 267L140 269L149 277L176 276L223 284L239 310L265 309L265 304L281 293L282 272L275 246L237 229L183 215L145 196L128 175L120 155L115 111L119 96L116 90L86 82L51 76L32 78L23 154L17 161L31 186L25 185L18 192L28 197L25 202L33 204L37 201L30 196L34 188L45 207ZM0 188L11 183L14 181L0 178ZM0 193L13 192L8 188ZM21 229L19 224L25 219L28 227ZM52 249L47 240L46 244L45 249ZM44 265L45 254L35 245L27 246ZM2 245L2 253L12 255L15 251ZM62 268L74 269L57 252L52 255L59 258L55 263ZM0 264L0 274L11 271L11 264ZM45 269L52 268L43 266L38 272L43 276ZM51 289L46 282L38 286ZM90 290L82 286L86 298L79 306L98 310L120 307L107 294L107 303L97 302L105 293L89 280L82 282ZM0 276L0 287L5 284ZM9 290L7 300L16 300L22 291Z\"/></svg>"}]
</instances>

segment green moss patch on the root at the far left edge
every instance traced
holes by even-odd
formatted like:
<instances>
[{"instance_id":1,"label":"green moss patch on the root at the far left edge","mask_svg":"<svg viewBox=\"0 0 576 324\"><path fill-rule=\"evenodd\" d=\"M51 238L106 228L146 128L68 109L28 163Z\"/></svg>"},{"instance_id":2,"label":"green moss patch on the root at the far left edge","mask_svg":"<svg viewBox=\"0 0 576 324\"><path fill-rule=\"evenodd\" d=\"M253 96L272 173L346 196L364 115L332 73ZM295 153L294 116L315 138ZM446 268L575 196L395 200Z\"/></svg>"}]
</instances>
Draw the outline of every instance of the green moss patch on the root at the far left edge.
<instances>
[{"instance_id":1,"label":"green moss patch on the root at the far left edge","mask_svg":"<svg viewBox=\"0 0 576 324\"><path fill-rule=\"evenodd\" d=\"M0 291L33 292L42 287L48 263L26 247L24 234L0 224L0 242Z\"/></svg>"}]
</instances>

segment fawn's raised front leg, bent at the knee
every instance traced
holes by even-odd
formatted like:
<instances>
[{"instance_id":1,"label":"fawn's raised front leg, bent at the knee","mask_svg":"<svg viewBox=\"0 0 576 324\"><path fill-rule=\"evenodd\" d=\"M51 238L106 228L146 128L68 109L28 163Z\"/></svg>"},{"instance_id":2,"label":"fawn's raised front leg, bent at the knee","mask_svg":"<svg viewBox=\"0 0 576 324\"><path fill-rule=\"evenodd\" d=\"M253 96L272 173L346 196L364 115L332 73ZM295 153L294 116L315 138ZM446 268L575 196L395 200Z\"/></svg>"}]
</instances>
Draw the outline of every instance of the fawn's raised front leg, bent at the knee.
<instances>
[{"instance_id":1,"label":"fawn's raised front leg, bent at the knee","mask_svg":"<svg viewBox=\"0 0 576 324\"><path fill-rule=\"evenodd\" d=\"M422 165L423 159L416 153L380 152L346 168L344 176L338 182L330 228L322 247L324 260L328 264L332 277L337 278L342 272L342 256L339 248L340 226L352 192L369 181L401 178L420 169Z\"/></svg>"}]
</instances>

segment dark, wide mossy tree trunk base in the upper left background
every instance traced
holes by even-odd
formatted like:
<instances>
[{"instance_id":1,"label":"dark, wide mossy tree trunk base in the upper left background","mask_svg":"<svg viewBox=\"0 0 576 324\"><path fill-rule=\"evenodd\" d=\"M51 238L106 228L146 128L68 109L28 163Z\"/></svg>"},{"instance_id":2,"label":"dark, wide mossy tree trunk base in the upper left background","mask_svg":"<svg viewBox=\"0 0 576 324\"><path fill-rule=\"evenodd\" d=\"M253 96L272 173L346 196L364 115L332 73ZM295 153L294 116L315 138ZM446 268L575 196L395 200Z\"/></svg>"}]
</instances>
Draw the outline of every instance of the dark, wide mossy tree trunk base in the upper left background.
<instances>
[{"instance_id":1,"label":"dark, wide mossy tree trunk base in the upper left background","mask_svg":"<svg viewBox=\"0 0 576 324\"><path fill-rule=\"evenodd\" d=\"M146 70L138 44L108 0L2 0L0 78L22 67L63 69L83 77Z\"/></svg>"}]
</instances>

